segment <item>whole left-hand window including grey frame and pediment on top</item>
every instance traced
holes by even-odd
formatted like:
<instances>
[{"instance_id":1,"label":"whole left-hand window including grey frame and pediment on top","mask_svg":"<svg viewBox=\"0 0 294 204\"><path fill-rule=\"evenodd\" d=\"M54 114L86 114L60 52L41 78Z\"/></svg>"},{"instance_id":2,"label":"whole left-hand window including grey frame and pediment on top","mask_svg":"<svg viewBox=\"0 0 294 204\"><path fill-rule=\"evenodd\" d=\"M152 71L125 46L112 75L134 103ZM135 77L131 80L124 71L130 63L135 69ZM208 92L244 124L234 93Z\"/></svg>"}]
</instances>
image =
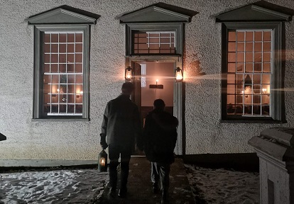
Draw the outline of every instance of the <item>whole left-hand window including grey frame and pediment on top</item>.
<instances>
[{"instance_id":1,"label":"whole left-hand window including grey frame and pediment on top","mask_svg":"<svg viewBox=\"0 0 294 204\"><path fill-rule=\"evenodd\" d=\"M60 6L34 25L33 119L89 120L89 32L99 15Z\"/></svg>"}]
</instances>

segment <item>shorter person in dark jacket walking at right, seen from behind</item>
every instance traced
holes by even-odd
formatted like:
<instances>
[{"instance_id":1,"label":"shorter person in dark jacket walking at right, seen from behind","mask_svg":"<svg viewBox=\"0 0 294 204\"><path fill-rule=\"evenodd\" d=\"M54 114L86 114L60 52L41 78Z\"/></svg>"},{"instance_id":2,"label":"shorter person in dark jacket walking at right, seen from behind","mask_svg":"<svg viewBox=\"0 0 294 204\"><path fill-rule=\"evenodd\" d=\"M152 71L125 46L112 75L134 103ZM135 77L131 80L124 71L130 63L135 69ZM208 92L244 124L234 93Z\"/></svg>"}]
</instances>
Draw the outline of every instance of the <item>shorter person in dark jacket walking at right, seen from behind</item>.
<instances>
[{"instance_id":1,"label":"shorter person in dark jacket walking at right, seen from behind","mask_svg":"<svg viewBox=\"0 0 294 204\"><path fill-rule=\"evenodd\" d=\"M153 111L148 113L143 128L143 148L151 162L153 192L158 192L158 181L162 190L161 203L168 203L170 164L175 162L174 149L177 141L178 119L164 111L165 103L156 99Z\"/></svg>"}]
</instances>

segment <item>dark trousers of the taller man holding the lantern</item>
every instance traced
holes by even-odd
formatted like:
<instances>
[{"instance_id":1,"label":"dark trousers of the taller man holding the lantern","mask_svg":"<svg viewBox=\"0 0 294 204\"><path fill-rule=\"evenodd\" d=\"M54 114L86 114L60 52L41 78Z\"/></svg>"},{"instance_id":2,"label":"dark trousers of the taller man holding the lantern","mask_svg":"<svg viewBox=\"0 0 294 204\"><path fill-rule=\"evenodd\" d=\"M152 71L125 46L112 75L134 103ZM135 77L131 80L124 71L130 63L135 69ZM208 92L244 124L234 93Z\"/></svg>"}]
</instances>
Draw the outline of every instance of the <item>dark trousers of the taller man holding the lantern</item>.
<instances>
[{"instance_id":1,"label":"dark trousers of the taller man holding the lantern","mask_svg":"<svg viewBox=\"0 0 294 204\"><path fill-rule=\"evenodd\" d=\"M116 190L117 166L119 166L119 154L121 157L121 189L126 189L129 177L129 162L131 159L131 146L109 144L109 185L111 191Z\"/></svg>"}]
</instances>

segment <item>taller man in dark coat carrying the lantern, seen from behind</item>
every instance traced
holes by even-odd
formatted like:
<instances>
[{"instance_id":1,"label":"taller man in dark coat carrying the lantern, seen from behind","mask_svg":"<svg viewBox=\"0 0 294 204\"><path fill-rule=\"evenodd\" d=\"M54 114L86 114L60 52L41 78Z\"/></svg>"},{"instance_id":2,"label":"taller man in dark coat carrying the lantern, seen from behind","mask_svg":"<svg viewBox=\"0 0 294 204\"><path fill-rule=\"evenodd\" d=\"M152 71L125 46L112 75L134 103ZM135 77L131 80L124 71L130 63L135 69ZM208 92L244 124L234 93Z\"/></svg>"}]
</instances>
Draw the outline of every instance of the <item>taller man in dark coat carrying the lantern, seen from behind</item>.
<instances>
[{"instance_id":1,"label":"taller man in dark coat carrying the lantern, seen from behind","mask_svg":"<svg viewBox=\"0 0 294 204\"><path fill-rule=\"evenodd\" d=\"M109 197L116 194L117 166L121 157L121 185L118 196L126 196L131 152L141 137L141 122L138 106L130 100L134 85L126 82L121 87L121 95L107 103L103 115L100 145L109 147ZM143 149L137 142L137 147Z\"/></svg>"}]
</instances>

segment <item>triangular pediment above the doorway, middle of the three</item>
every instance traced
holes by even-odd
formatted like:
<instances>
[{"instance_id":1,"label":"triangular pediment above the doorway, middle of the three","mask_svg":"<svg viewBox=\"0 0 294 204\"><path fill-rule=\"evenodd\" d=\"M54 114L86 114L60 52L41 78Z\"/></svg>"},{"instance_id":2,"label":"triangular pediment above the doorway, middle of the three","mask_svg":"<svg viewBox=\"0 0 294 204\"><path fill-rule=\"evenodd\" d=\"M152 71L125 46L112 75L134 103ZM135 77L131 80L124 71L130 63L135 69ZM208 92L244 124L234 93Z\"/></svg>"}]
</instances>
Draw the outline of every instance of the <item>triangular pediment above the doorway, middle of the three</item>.
<instances>
[{"instance_id":1,"label":"triangular pediment above the doorway, middle of the three","mask_svg":"<svg viewBox=\"0 0 294 204\"><path fill-rule=\"evenodd\" d=\"M163 8L160 3L153 6L148 6L146 8L133 11L131 13L126 13L120 16L118 19L120 23L162 23L162 22L183 22L189 23L192 16L195 16L197 12L185 10L182 13L172 11L171 9ZM173 6L164 4L171 8ZM180 10L180 9L177 9Z\"/></svg>"}]
</instances>

